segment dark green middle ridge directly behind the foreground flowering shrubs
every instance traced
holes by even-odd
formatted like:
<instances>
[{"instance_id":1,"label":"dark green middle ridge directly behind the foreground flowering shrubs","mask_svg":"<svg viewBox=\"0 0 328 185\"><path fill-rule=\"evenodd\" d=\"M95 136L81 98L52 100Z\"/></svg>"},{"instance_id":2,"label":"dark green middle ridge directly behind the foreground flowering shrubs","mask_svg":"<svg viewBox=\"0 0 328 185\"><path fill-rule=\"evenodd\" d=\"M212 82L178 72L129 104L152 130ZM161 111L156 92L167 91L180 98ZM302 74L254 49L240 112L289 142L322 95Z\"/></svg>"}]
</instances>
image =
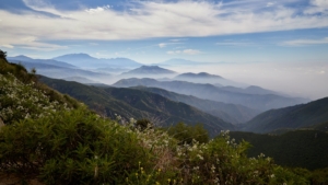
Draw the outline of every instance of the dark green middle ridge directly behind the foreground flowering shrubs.
<instances>
[{"instance_id":1,"label":"dark green middle ridge directly behind the foreground flowering shrubs","mask_svg":"<svg viewBox=\"0 0 328 185\"><path fill-rule=\"evenodd\" d=\"M137 89L96 88L43 77L42 82L57 91L75 97L92 109L108 117L119 114L126 119L148 118L160 126L179 122L188 125L201 123L211 136L222 129L234 130L234 126L219 117L203 113L190 105L174 102L162 95Z\"/></svg>"}]
</instances>

